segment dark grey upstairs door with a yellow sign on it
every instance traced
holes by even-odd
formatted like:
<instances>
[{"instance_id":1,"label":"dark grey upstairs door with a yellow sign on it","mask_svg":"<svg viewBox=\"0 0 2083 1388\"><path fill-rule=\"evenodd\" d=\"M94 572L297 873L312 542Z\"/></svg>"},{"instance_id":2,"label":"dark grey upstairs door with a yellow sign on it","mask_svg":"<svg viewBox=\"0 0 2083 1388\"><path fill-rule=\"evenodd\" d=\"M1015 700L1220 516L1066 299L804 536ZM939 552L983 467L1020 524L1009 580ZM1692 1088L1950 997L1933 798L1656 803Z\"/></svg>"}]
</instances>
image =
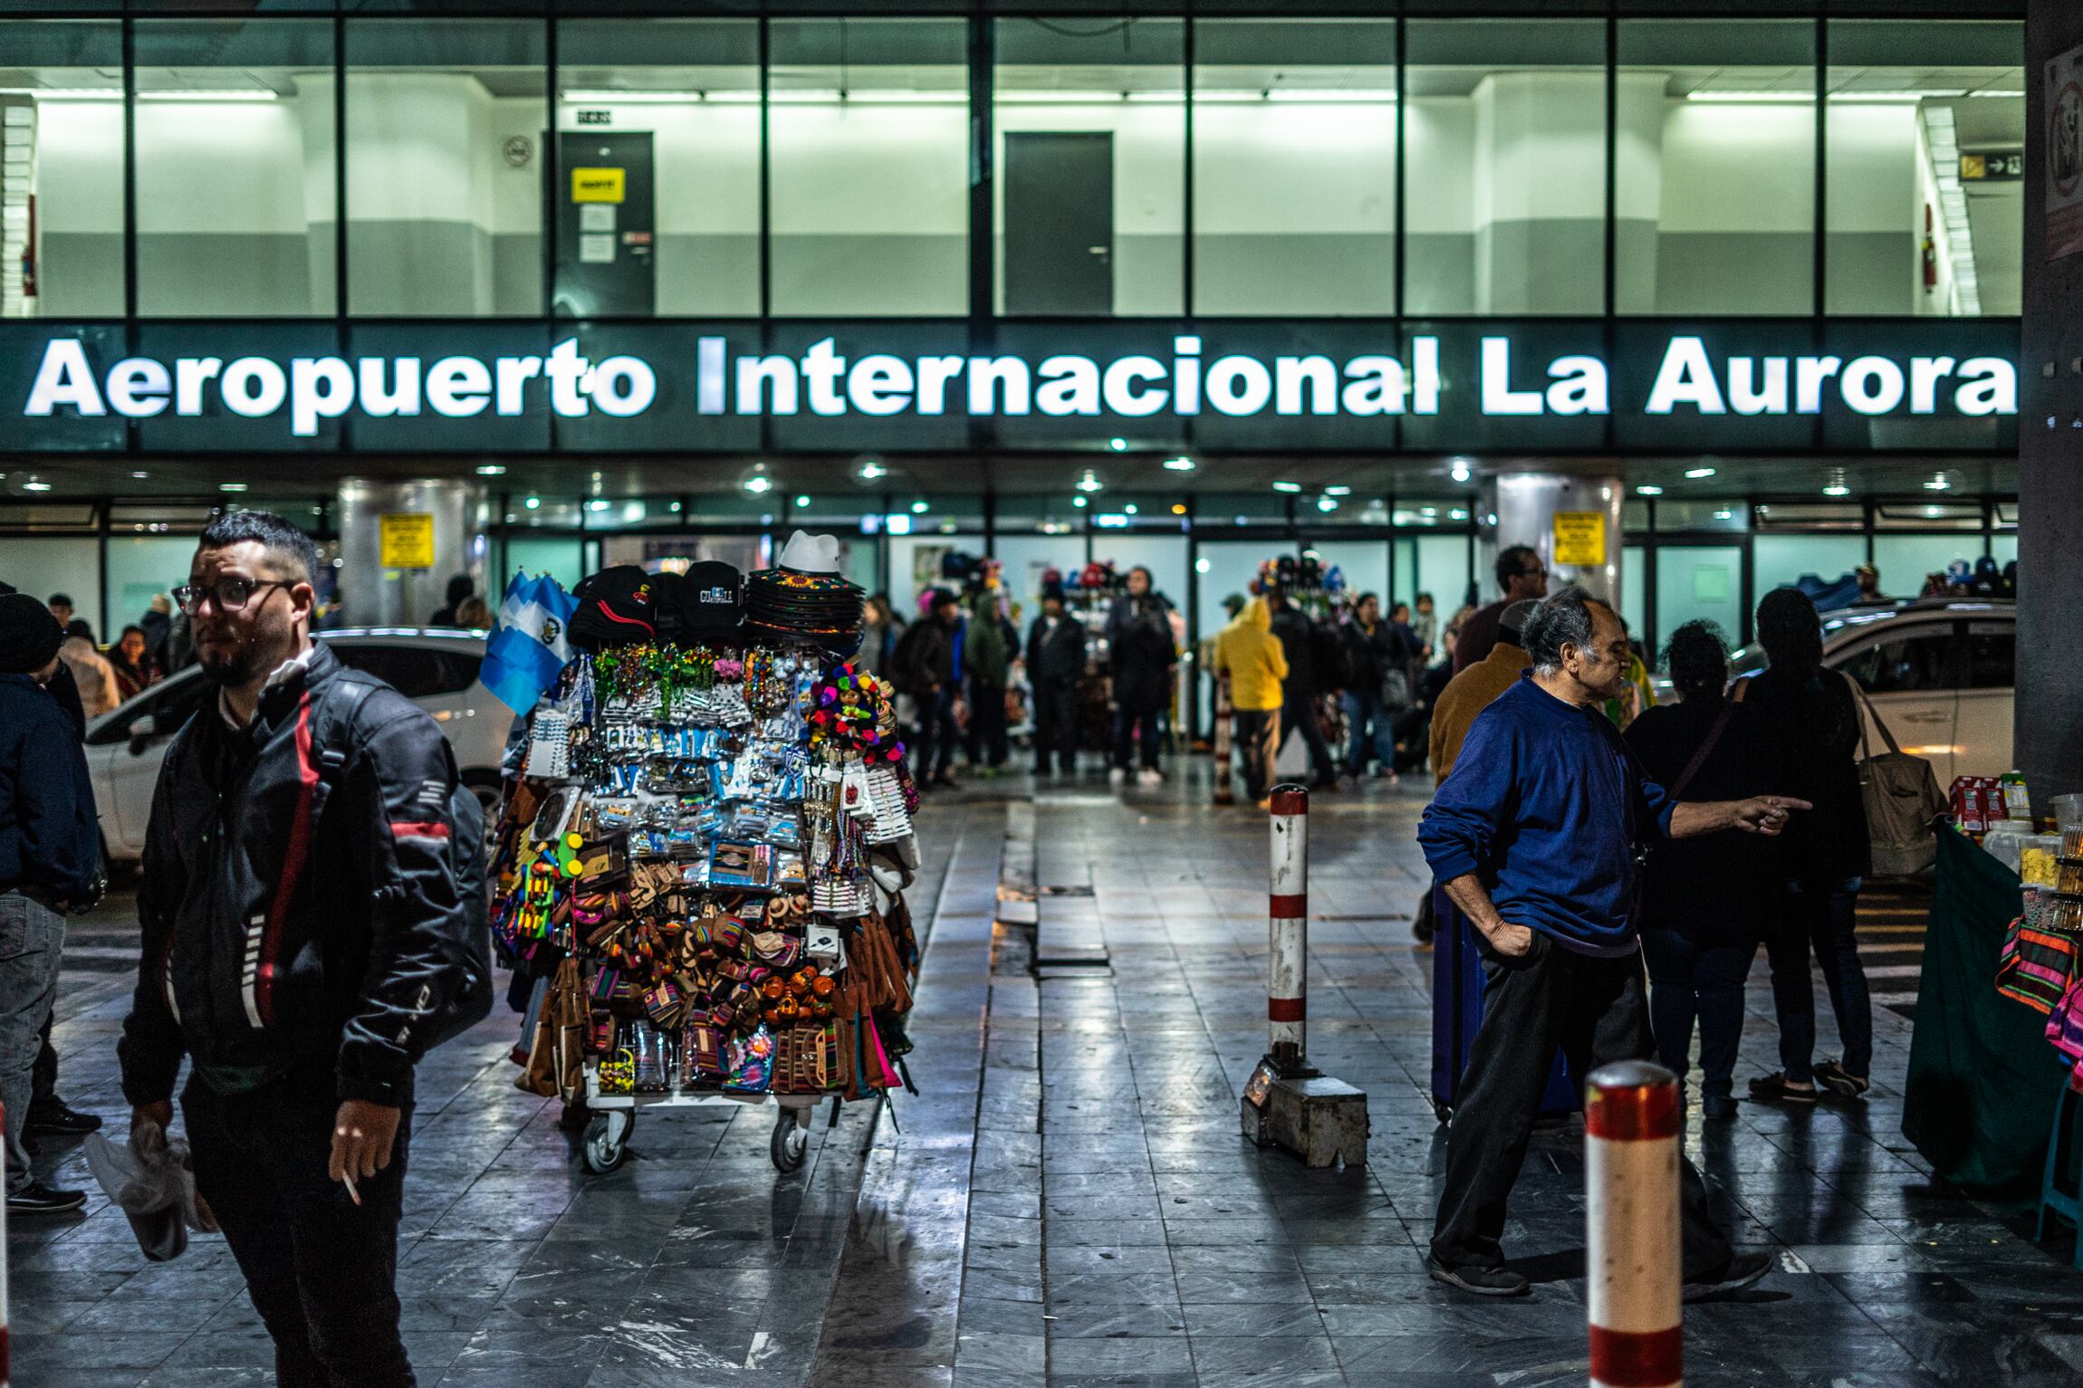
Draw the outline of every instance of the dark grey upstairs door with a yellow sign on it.
<instances>
[{"instance_id":1,"label":"dark grey upstairs door with a yellow sign on it","mask_svg":"<svg viewBox=\"0 0 2083 1388\"><path fill-rule=\"evenodd\" d=\"M567 131L556 156L556 312L648 318L658 302L650 131Z\"/></svg>"}]
</instances>

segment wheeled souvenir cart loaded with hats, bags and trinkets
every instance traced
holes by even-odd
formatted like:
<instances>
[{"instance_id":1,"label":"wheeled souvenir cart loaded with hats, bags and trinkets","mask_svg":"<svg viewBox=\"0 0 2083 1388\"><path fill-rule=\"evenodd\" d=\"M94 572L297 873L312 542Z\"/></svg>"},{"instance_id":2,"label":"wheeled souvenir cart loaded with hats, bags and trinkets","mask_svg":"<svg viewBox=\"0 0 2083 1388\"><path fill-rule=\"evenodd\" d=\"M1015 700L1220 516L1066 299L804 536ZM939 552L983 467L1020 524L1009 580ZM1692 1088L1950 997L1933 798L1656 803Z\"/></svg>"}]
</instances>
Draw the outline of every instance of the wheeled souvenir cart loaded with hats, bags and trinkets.
<instances>
[{"instance_id":1,"label":"wheeled souvenir cart loaded with hats, bags and trinkets","mask_svg":"<svg viewBox=\"0 0 2083 1388\"><path fill-rule=\"evenodd\" d=\"M531 716L494 922L554 976L589 1172L623 1163L637 1109L725 1103L777 1107L789 1172L819 1101L910 1082L917 791L889 691L844 660L860 589L835 570L798 533L742 612L723 564L577 591L596 649Z\"/></svg>"}]
</instances>

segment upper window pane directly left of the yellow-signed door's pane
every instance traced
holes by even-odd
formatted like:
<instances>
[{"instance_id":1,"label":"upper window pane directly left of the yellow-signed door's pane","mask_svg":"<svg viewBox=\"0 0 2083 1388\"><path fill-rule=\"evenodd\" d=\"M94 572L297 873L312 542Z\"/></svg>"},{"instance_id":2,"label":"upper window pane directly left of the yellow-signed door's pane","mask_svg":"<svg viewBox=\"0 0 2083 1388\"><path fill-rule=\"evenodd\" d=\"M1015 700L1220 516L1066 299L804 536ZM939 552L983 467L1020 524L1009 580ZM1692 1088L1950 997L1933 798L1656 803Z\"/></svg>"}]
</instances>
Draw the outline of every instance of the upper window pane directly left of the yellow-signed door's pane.
<instances>
[{"instance_id":1,"label":"upper window pane directly left of the yellow-signed door's pane","mask_svg":"<svg viewBox=\"0 0 2083 1388\"><path fill-rule=\"evenodd\" d=\"M348 23L348 310L542 312L542 25Z\"/></svg>"}]
</instances>

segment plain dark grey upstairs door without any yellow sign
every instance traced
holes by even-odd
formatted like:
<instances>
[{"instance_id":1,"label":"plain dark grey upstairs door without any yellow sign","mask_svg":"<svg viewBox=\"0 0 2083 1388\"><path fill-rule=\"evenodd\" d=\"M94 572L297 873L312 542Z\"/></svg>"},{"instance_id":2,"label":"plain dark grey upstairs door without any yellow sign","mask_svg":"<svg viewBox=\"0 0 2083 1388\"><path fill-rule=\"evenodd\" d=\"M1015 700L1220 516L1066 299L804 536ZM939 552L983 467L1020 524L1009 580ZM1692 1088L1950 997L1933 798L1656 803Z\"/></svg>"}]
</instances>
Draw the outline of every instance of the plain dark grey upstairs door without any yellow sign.
<instances>
[{"instance_id":1,"label":"plain dark grey upstairs door without any yellow sign","mask_svg":"<svg viewBox=\"0 0 2083 1388\"><path fill-rule=\"evenodd\" d=\"M1114 137L1006 135L1006 312L1114 312Z\"/></svg>"}]
</instances>

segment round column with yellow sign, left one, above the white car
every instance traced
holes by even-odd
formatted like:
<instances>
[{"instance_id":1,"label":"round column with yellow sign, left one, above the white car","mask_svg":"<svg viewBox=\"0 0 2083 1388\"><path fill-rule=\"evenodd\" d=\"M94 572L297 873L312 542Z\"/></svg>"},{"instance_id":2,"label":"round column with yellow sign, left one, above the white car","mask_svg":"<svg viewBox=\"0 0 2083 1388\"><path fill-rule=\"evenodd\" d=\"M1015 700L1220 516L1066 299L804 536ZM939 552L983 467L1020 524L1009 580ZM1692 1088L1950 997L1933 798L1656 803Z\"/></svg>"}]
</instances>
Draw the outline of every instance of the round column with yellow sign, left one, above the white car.
<instances>
[{"instance_id":1,"label":"round column with yellow sign, left one, above the white car","mask_svg":"<svg viewBox=\"0 0 2083 1388\"><path fill-rule=\"evenodd\" d=\"M383 568L383 516L433 516L433 564ZM465 481L348 477L340 483L340 597L346 626L419 626L442 608L448 579L469 574L485 601L485 489Z\"/></svg>"}]
</instances>

